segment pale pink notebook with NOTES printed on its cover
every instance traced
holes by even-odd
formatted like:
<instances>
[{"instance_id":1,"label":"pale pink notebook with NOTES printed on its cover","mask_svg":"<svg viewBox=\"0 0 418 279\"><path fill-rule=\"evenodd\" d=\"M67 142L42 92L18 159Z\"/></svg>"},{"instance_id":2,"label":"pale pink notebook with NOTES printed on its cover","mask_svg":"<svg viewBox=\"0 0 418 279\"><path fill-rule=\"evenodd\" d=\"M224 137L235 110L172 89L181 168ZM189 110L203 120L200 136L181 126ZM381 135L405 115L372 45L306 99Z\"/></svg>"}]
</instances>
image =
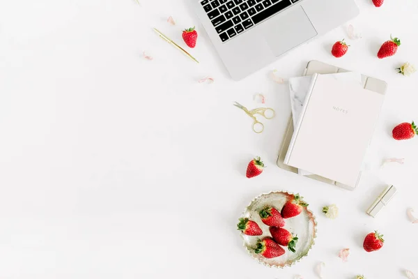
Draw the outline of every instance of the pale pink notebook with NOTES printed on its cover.
<instances>
[{"instance_id":1,"label":"pale pink notebook with NOTES printed on its cover","mask_svg":"<svg viewBox=\"0 0 418 279\"><path fill-rule=\"evenodd\" d=\"M314 74L284 163L355 187L384 96Z\"/></svg>"}]
</instances>

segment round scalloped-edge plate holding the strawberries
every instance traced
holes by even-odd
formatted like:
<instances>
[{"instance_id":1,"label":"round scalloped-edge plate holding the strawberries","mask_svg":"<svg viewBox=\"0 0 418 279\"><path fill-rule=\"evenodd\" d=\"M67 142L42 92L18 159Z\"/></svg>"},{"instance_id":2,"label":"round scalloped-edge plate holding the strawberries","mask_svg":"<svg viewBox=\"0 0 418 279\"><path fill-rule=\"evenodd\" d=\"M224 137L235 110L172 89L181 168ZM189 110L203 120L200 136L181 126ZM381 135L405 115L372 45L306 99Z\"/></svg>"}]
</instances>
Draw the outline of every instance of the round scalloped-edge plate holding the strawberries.
<instances>
[{"instance_id":1,"label":"round scalloped-edge plate holding the strawberries","mask_svg":"<svg viewBox=\"0 0 418 279\"><path fill-rule=\"evenodd\" d=\"M268 225L265 225L261 221L261 218L258 215L258 211L260 211L263 206L266 205L274 206L277 210L281 211L281 208L284 206L284 204L288 200L293 199L293 197L293 193L288 193L286 191L261 194L253 199L245 211L242 213L242 218L249 218L250 220L253 220L261 227L261 229L263 229L263 235L261 236L247 236L241 233L241 237L244 241L245 248L249 252L249 255L254 257L254 259L256 259L261 264L264 264L265 266L276 266L280 268L284 268L285 266L292 266L296 262L299 262L303 257L306 257L309 253L309 250L311 250L312 246L314 246L317 223L314 213L312 213L312 211L309 210L309 206L307 206L304 207L300 215L285 219L286 225L284 228L291 232L293 236L297 234L297 237L299 238L299 241L296 243L296 252L291 252L286 247L284 247L284 250L286 251L284 255L281 255L280 257L274 257L272 259L267 259L262 255L256 254L254 252L254 248L258 239L263 239L265 236L271 236ZM304 200L304 202L307 201ZM309 204L309 202L307 203Z\"/></svg>"}]
</instances>

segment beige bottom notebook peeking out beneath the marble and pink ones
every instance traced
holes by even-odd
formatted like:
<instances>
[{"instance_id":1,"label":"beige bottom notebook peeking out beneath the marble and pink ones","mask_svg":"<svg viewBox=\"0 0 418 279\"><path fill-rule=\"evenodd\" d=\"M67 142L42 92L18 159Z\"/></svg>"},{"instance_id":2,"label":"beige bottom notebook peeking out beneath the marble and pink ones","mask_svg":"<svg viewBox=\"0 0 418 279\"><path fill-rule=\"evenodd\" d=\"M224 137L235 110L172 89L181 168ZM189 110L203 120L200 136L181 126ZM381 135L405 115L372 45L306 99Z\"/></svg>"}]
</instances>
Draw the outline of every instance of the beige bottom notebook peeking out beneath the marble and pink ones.
<instances>
[{"instance_id":1,"label":"beige bottom notebook peeking out beneath the marble and pink ones","mask_svg":"<svg viewBox=\"0 0 418 279\"><path fill-rule=\"evenodd\" d=\"M330 74L330 73L343 73L347 72L348 70L344 70L342 68L332 66L320 61L310 61L307 65L307 68L305 68L303 75L313 75L314 73L319 74ZM373 77L368 77L366 75L362 75L362 84L365 89L369 89L371 91L375 91L377 93L380 93L382 95L385 95L387 91L387 83L378 80ZM291 138L293 136L293 119L292 116L289 116L288 118L288 126L286 129L286 133L284 134L284 138L281 142L281 148L279 149L279 156L277 158L277 166L281 169L286 169L289 172L294 172L297 174L297 168L291 167L284 164L284 158L286 157L286 153L288 151L288 146L291 142ZM338 181L333 181L331 179L326 179L323 176L318 176L315 174L306 176L311 179L315 179L317 181L322 181L324 183L340 186L343 188L348 188L350 190L353 190L354 188L352 186L347 186L343 183L339 183Z\"/></svg>"}]
</instances>

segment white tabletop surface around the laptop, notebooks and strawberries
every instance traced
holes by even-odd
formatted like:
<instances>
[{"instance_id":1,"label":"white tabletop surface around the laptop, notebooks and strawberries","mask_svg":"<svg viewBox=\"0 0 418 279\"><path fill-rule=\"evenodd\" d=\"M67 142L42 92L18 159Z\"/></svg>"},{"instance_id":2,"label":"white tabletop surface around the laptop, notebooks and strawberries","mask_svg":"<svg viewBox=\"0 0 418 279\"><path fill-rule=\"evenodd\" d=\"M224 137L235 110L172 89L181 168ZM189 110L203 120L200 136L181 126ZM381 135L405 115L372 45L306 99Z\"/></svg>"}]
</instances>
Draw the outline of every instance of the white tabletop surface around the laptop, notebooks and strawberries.
<instances>
[{"instance_id":1,"label":"white tabletop surface around the laptop, notebooks and strawberries","mask_svg":"<svg viewBox=\"0 0 418 279\"><path fill-rule=\"evenodd\" d=\"M357 0L353 20L362 40L335 29L233 82L217 59L186 1L0 1L0 276L1 278L403 278L418 273L417 139L396 142L396 123L417 120L418 73L396 74L401 63L418 65L415 0L387 0L374 8ZM176 27L166 20L172 15ZM196 24L199 42L189 61L158 38L158 27L180 45L180 30ZM402 40L396 56L376 53L390 33ZM341 59L330 50L346 38ZM142 57L146 50L153 61ZM268 78L300 75L307 61L334 63L389 83L369 152L374 165L357 190L312 181L275 166L291 110L287 84ZM211 75L214 84L196 80ZM265 131L251 131L254 93L266 96L277 117ZM258 178L245 168L259 155L268 167ZM378 169L387 157L405 165ZM399 193L373 219L365 211L385 188ZM251 259L235 224L259 193L301 193L318 215L311 255L291 269L268 269ZM322 206L336 203L327 220ZM385 246L362 250L364 236L379 229ZM350 248L349 262L336 255Z\"/></svg>"}]
</instances>

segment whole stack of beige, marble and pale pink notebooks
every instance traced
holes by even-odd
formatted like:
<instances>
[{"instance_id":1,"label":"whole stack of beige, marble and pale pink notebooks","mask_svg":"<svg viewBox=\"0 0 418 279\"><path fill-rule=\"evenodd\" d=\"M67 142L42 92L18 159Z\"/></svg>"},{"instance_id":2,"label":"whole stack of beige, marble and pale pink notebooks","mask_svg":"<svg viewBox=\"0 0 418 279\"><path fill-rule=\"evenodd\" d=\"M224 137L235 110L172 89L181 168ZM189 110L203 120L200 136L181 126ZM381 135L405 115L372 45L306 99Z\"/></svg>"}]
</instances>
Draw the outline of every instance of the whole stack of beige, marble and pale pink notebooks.
<instances>
[{"instance_id":1,"label":"whole stack of beige, marble and pale pink notebooks","mask_svg":"<svg viewBox=\"0 0 418 279\"><path fill-rule=\"evenodd\" d=\"M309 70L289 79L292 117L277 165L354 189L387 85L318 61Z\"/></svg>"}]
</instances>

